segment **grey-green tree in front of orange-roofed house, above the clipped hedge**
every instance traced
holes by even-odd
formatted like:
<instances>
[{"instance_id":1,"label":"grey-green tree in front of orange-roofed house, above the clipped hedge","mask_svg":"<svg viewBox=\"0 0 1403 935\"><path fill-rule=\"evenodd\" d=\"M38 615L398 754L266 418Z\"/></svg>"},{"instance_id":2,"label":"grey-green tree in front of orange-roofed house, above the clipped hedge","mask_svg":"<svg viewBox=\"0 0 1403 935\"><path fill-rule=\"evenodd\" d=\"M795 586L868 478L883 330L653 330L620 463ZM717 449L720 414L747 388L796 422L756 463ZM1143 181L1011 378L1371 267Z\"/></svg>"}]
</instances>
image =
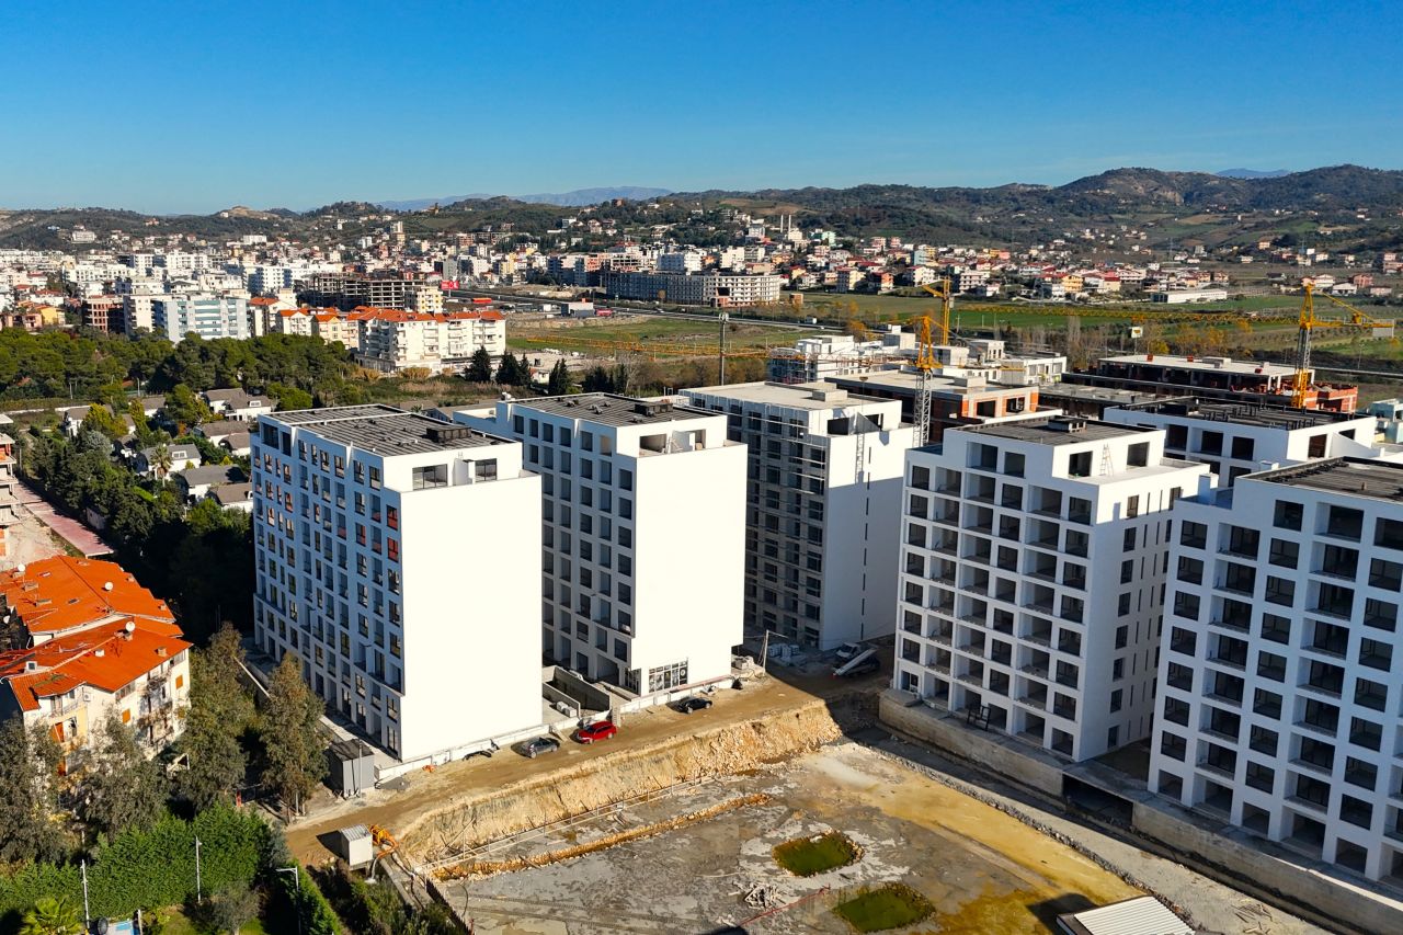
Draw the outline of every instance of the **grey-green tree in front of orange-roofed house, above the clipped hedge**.
<instances>
[{"instance_id":1,"label":"grey-green tree in front of orange-roofed house, above the clipped hedge","mask_svg":"<svg viewBox=\"0 0 1403 935\"><path fill-rule=\"evenodd\" d=\"M166 811L166 774L136 745L136 731L115 708L94 741L77 783L79 817L108 838L156 824Z\"/></svg>"}]
</instances>

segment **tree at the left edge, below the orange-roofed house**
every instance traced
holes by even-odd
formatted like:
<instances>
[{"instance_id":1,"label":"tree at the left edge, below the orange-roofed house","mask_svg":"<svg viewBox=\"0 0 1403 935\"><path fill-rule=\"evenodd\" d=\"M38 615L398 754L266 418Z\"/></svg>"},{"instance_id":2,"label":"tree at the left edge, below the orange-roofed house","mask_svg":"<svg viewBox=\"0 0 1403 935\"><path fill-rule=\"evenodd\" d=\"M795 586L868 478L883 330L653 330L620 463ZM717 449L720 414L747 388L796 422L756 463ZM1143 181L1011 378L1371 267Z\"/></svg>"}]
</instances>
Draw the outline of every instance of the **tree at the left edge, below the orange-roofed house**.
<instances>
[{"instance_id":1,"label":"tree at the left edge, below the orange-roofed house","mask_svg":"<svg viewBox=\"0 0 1403 935\"><path fill-rule=\"evenodd\" d=\"M18 715L0 724L0 859L59 861L69 848L62 827L55 775L62 751L42 724L24 726Z\"/></svg>"}]
</instances>

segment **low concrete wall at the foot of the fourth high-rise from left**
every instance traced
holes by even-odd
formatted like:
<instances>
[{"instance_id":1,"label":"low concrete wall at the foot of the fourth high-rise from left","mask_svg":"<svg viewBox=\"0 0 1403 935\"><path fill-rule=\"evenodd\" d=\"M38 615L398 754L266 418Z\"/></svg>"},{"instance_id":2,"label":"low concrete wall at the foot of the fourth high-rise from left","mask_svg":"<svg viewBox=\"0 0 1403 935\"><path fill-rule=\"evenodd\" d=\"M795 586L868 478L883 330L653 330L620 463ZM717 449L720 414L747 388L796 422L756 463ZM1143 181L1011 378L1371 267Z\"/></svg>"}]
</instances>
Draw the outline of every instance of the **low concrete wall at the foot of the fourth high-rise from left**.
<instances>
[{"instance_id":1,"label":"low concrete wall at the foot of the fourth high-rise from left","mask_svg":"<svg viewBox=\"0 0 1403 935\"><path fill-rule=\"evenodd\" d=\"M1014 748L1014 741L1003 734L971 729L961 716L912 702L916 696L911 692L894 688L882 692L878 709L882 723L1026 786L1062 796L1062 769L1051 757L1027 747Z\"/></svg>"}]
</instances>

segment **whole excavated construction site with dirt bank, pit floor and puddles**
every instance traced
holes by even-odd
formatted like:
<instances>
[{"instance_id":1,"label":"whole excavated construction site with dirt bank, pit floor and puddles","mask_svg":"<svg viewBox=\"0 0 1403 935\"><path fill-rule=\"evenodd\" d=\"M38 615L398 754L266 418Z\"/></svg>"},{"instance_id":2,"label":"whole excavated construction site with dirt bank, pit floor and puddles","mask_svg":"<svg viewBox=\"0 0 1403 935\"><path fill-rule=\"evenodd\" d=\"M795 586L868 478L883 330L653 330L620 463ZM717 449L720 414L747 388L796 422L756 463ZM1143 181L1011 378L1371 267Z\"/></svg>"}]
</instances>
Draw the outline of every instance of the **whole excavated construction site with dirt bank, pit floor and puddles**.
<instances>
[{"instance_id":1,"label":"whole excavated construction site with dirt bank, pit floor and puddles","mask_svg":"<svg viewBox=\"0 0 1403 935\"><path fill-rule=\"evenodd\" d=\"M826 668L638 712L542 760L499 751L324 797L289 842L324 862L340 828L369 825L411 898L502 935L1031 935L1143 893L1204 931L1323 931L940 760L877 722L882 675Z\"/></svg>"}]
</instances>

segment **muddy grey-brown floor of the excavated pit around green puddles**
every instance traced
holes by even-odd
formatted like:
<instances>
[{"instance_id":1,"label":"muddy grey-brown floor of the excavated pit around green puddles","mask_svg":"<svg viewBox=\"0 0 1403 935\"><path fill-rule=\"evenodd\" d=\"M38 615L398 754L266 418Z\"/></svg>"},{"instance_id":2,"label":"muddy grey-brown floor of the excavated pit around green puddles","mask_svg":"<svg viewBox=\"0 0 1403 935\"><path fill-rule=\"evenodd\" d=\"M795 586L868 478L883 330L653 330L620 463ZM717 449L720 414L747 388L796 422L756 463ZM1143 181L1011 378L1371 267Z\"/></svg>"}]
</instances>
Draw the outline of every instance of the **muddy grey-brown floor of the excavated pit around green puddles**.
<instances>
[{"instance_id":1,"label":"muddy grey-brown floor of the excavated pit around green puddles","mask_svg":"<svg viewBox=\"0 0 1403 935\"><path fill-rule=\"evenodd\" d=\"M494 935L839 935L852 929L832 907L885 883L934 906L902 931L1033 935L1056 911L1138 894L1016 818L847 741L567 825L485 856L525 869L442 879L439 893ZM807 877L776 863L776 845L831 831L852 838L856 862Z\"/></svg>"}]
</instances>

